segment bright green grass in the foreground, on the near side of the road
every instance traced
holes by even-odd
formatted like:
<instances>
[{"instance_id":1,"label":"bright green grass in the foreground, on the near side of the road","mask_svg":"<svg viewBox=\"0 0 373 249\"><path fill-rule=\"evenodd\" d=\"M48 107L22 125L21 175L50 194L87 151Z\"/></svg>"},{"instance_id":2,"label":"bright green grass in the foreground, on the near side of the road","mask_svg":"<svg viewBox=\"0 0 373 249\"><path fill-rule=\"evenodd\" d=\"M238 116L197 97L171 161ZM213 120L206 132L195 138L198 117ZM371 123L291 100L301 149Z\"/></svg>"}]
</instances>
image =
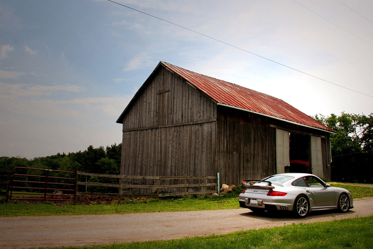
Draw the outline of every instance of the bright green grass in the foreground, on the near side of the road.
<instances>
[{"instance_id":1,"label":"bright green grass in the foreground, on the near side of the road","mask_svg":"<svg viewBox=\"0 0 373 249\"><path fill-rule=\"evenodd\" d=\"M244 220L244 218L242 218ZM71 248L71 247L68 247ZM85 246L81 249L340 249L373 248L373 216L239 231L224 235ZM65 249L59 247L58 249ZM67 249L67 247L66 247Z\"/></svg>"}]
</instances>

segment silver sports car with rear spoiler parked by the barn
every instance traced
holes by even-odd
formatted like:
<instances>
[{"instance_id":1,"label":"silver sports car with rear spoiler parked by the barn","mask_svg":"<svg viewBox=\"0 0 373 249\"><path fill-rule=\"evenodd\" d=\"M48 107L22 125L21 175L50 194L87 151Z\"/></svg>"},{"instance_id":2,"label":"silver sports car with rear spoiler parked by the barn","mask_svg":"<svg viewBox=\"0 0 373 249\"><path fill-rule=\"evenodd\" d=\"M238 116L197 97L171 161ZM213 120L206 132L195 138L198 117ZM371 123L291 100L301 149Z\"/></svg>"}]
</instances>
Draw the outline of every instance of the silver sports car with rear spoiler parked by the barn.
<instances>
[{"instance_id":1,"label":"silver sports car with rear spoiler parked by the barn","mask_svg":"<svg viewBox=\"0 0 373 249\"><path fill-rule=\"evenodd\" d=\"M316 175L283 173L263 180L244 180L239 205L253 212L270 210L293 211L298 218L310 211L354 208L354 199L347 189L330 187Z\"/></svg>"}]
</instances>

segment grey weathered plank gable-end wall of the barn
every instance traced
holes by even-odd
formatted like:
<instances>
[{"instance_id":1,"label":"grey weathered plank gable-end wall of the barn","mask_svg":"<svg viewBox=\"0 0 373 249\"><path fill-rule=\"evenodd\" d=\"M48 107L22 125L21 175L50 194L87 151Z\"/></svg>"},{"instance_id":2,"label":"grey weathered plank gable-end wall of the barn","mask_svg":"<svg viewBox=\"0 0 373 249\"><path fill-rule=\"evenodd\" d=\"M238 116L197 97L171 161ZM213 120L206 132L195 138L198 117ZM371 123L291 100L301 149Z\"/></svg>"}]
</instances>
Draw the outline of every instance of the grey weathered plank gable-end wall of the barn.
<instances>
[{"instance_id":1,"label":"grey weathered plank gable-end wall of the barn","mask_svg":"<svg viewBox=\"0 0 373 249\"><path fill-rule=\"evenodd\" d=\"M215 175L216 104L160 67L123 119L124 175Z\"/></svg>"}]
</instances>

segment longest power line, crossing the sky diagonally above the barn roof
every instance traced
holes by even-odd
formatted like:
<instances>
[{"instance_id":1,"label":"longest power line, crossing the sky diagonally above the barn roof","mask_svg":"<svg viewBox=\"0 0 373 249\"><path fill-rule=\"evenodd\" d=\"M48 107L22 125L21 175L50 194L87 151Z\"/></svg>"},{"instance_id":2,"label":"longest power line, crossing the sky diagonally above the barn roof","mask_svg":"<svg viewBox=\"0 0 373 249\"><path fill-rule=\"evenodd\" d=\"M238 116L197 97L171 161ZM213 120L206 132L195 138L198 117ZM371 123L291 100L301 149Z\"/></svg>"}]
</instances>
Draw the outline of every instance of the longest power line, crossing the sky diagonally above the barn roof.
<instances>
[{"instance_id":1,"label":"longest power line, crossing the sky diagonally above the barn roof","mask_svg":"<svg viewBox=\"0 0 373 249\"><path fill-rule=\"evenodd\" d=\"M276 62L275 60L271 60L271 59L268 59L268 58L266 58L266 57L264 57L264 56L257 55L256 53L250 52L250 51L245 50L245 49L241 49L240 47L237 47L237 46L234 46L234 45L232 45L232 44L226 43L225 41L218 40L218 39L213 38L213 37L211 37L211 36L208 36L208 35L202 34L202 33L200 33L200 32L194 31L194 30L192 30L192 29L186 28L186 27L184 27L184 26L181 26L181 25L175 24L175 23L173 23L173 22L170 22L170 21L164 20L164 19L159 18L159 17L157 17L157 16L150 15L150 14L148 14L148 13L142 12L142 11L137 10L137 9L134 9L134 8L131 8L131 7L126 6L126 5L124 5L124 4L117 3L117 2L112 1L112 0L107 0L107 1L112 2L112 3L116 3L116 4L120 5L120 6L126 7L126 8L128 8L128 9L135 10L135 11L137 11L137 12L140 12L140 13L142 13L142 14L145 14L145 15L151 16L151 17L153 17L153 18L159 19L159 20L161 20L161 21L167 22L167 23L172 24L172 25L175 25L175 26L177 26L177 27L184 28L184 29L189 30L189 31L191 31L191 32L194 32L194 33L196 33L196 34L203 35L204 37L210 38L210 39L212 39L212 40L218 41L218 42L220 42L220 43L226 44L226 45L228 45L228 46L234 47L234 48L239 49L239 50L241 50L241 51L244 51L244 52L250 53L250 54L252 54L252 55L258 56L258 57L260 57L260 58L263 58L263 59L269 60L270 62L274 62L274 63L276 63L276 64L278 64L278 65L285 66L286 68L289 68L289 69L295 70L295 71L300 72L300 73L302 73L302 74L305 74L305 75L311 76L311 77L313 77L313 78L316 78L316 79L319 79L319 80L325 81L325 82L327 82L327 83L330 83L330 84L336 85L336 86L338 86L338 87L345 88L345 89L350 90L350 91L354 91L355 93L360 93L360 94L363 94L363 95L365 95L365 96L368 96L368 97L372 97L372 98L373 98L372 95L365 94L365 93L361 93L360 91L356 91L356 90L353 90L353 89L351 89L351 88L344 87L343 85L338 85L338 84L333 83L333 82L331 82L331 81L324 80L324 79L319 78L319 77L317 77L317 76L314 76L314 75L308 74L308 73L306 73L306 72L300 71L300 70L298 70L298 69L292 68L291 66L286 66L285 64L282 64L282 63ZM293 0L293 1L294 1L294 0ZM348 32L348 31L347 31L347 32ZM370 43L369 43L369 44L370 44ZM372 45L372 44L371 44L371 45ZM372 45L372 46L373 46L373 45Z\"/></svg>"}]
</instances>

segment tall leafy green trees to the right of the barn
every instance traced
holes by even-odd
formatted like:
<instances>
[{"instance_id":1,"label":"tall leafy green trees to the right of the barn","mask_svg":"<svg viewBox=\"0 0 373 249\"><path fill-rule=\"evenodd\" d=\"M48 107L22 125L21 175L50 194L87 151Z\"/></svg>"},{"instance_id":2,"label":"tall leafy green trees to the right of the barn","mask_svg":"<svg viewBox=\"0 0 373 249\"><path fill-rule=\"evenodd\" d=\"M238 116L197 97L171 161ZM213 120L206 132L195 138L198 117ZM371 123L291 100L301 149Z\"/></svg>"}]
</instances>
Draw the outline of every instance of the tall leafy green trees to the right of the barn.
<instances>
[{"instance_id":1,"label":"tall leafy green trees to the right of the barn","mask_svg":"<svg viewBox=\"0 0 373 249\"><path fill-rule=\"evenodd\" d=\"M342 112L313 118L336 132L330 135L332 180L373 183L373 114Z\"/></svg>"}]
</instances>

